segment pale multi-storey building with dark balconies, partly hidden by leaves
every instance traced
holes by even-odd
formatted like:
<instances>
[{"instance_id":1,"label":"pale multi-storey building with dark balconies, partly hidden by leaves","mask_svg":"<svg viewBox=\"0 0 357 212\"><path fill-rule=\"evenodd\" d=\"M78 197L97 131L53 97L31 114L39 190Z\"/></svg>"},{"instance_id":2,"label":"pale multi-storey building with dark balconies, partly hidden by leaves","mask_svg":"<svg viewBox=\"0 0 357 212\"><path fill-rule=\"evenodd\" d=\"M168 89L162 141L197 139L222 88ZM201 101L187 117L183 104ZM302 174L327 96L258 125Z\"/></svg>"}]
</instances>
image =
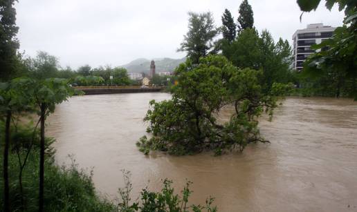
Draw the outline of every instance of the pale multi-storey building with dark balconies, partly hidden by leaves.
<instances>
[{"instance_id":1,"label":"pale multi-storey building with dark balconies, partly hidden by leaves","mask_svg":"<svg viewBox=\"0 0 357 212\"><path fill-rule=\"evenodd\" d=\"M313 23L305 29L296 30L293 35L293 68L302 70L305 59L315 52L311 50L311 46L332 37L335 29L331 26L324 26L322 23Z\"/></svg>"}]
</instances>

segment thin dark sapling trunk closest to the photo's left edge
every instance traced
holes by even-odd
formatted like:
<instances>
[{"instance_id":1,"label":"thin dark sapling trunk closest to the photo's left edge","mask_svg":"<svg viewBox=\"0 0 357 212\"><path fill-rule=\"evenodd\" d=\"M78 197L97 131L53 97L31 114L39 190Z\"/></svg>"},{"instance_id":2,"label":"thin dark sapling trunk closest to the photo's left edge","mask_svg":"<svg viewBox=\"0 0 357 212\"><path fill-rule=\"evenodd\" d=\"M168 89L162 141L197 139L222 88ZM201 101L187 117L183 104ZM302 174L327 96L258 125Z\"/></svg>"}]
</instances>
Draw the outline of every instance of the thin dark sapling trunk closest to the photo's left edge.
<instances>
[{"instance_id":1,"label":"thin dark sapling trunk closest to the photo's left edge","mask_svg":"<svg viewBox=\"0 0 357 212\"><path fill-rule=\"evenodd\" d=\"M6 125L5 125L5 145L3 147L3 194L5 195L3 200L3 211L10 212L10 189L9 189L9 175L8 175L8 156L10 146L10 120L11 110L6 113Z\"/></svg>"}]
</instances>

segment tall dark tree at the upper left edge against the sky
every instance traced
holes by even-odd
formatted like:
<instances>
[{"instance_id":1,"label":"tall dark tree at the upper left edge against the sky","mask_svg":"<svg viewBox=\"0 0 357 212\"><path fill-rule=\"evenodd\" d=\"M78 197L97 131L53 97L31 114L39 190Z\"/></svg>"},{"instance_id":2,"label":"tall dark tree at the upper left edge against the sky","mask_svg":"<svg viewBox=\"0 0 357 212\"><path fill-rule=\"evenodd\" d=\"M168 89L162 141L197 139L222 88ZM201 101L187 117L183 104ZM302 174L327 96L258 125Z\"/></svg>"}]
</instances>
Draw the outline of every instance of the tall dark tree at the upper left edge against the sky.
<instances>
[{"instance_id":1,"label":"tall dark tree at the upper left edge against the sky","mask_svg":"<svg viewBox=\"0 0 357 212\"><path fill-rule=\"evenodd\" d=\"M17 71L17 50L19 41L16 38L19 28L16 26L15 0L0 1L0 80L12 78Z\"/></svg>"}]
</instances>

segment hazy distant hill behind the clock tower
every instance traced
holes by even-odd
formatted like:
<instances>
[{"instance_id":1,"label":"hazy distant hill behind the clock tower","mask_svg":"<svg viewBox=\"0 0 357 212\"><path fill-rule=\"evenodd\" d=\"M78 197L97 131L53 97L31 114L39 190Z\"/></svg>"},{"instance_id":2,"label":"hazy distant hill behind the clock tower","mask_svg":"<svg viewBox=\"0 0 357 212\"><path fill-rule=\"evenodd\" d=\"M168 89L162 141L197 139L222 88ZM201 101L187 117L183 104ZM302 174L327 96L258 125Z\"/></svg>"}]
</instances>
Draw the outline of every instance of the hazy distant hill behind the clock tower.
<instances>
[{"instance_id":1,"label":"hazy distant hill behind the clock tower","mask_svg":"<svg viewBox=\"0 0 357 212\"><path fill-rule=\"evenodd\" d=\"M164 71L174 71L175 68L185 62L185 58L182 59L171 59L171 58L156 58L155 66L156 73ZM126 68L128 73L149 73L151 60L145 58L139 58L131 61L129 64L125 64L122 67Z\"/></svg>"}]
</instances>

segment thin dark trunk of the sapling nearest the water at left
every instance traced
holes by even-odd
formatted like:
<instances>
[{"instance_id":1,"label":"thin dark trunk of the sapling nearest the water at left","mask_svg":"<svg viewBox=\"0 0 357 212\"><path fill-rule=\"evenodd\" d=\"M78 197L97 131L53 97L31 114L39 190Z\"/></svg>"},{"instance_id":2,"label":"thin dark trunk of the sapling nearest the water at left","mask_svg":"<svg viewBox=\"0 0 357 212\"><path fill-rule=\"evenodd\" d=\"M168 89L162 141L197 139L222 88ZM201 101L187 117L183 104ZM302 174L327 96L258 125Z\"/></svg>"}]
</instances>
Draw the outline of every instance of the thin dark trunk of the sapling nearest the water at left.
<instances>
[{"instance_id":1,"label":"thin dark trunk of the sapling nearest the water at left","mask_svg":"<svg viewBox=\"0 0 357 212\"><path fill-rule=\"evenodd\" d=\"M39 150L39 212L44 211L44 122L45 122L46 105L41 104L41 138Z\"/></svg>"}]
</instances>

